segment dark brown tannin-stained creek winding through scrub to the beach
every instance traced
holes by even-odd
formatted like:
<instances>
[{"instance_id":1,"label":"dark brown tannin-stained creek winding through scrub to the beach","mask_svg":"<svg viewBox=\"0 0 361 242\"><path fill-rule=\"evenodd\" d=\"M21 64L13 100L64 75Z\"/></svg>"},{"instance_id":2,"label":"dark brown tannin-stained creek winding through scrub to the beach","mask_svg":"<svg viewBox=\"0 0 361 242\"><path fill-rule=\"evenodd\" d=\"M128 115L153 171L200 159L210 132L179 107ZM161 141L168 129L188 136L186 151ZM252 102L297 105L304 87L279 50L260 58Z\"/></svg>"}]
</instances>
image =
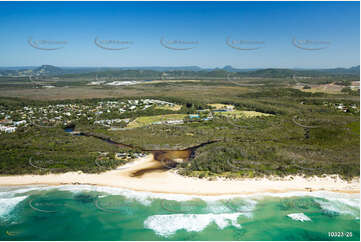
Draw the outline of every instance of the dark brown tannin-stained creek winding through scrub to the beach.
<instances>
[{"instance_id":1,"label":"dark brown tannin-stained creek winding through scrub to the beach","mask_svg":"<svg viewBox=\"0 0 361 242\"><path fill-rule=\"evenodd\" d=\"M220 140L211 140L211 141L207 141L207 142L201 143L199 145L192 146L192 147L182 149L182 150L172 150L172 149L168 149L168 150L147 150L147 149L143 149L143 148L138 147L138 146L123 144L123 143L113 141L111 139L111 137L105 137L105 136L95 134L95 133L92 133L92 132L75 131L75 126L66 127L66 128L64 128L64 131L67 132L67 133L71 133L73 135L94 137L94 138L100 139L102 141L108 142L110 144L113 144L113 145L116 145L116 146L119 146L119 147L138 149L138 150L141 150L141 151L144 151L144 152L152 153L153 157L154 157L154 161L157 161L157 163L155 163L153 166L150 166L150 167L140 169L140 170L137 170L137 171L133 172L132 176L134 176L134 177L140 177L140 176L144 175L145 173L149 173L149 172L162 171L162 170L165 171L165 170L172 169L172 168L176 167L178 163L187 162L187 161L191 160L192 158L194 158L195 151L198 148L220 141Z\"/></svg>"}]
</instances>

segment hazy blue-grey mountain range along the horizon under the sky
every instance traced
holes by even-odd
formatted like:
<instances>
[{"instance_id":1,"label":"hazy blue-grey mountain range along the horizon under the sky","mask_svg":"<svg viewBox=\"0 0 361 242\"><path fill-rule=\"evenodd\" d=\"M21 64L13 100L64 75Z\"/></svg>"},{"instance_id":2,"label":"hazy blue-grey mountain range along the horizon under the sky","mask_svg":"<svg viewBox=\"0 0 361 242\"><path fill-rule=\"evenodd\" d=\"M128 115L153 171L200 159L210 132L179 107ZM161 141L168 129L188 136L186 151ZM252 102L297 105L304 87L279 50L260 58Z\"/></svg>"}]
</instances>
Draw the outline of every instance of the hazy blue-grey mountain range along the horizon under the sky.
<instances>
[{"instance_id":1,"label":"hazy blue-grey mountain range along the horizon under the sky","mask_svg":"<svg viewBox=\"0 0 361 242\"><path fill-rule=\"evenodd\" d=\"M42 65L40 67L0 67L0 76L57 76L64 74L72 75L94 75L94 73L111 75L144 75L147 72L151 76L159 76L161 72L178 72L178 76L219 77L225 73L233 72L239 76L250 77L275 77L284 78L296 76L325 76L325 75L360 75L360 66L350 68L329 68L329 69L282 69L282 68L248 68L240 69L226 65L223 68L201 68L199 66L148 66L148 67L57 67ZM151 73L154 72L154 73ZM138 74L136 74L138 73ZM158 73L158 74L157 74ZM173 73L174 74L174 73ZM177 76L176 75L176 76Z\"/></svg>"}]
</instances>

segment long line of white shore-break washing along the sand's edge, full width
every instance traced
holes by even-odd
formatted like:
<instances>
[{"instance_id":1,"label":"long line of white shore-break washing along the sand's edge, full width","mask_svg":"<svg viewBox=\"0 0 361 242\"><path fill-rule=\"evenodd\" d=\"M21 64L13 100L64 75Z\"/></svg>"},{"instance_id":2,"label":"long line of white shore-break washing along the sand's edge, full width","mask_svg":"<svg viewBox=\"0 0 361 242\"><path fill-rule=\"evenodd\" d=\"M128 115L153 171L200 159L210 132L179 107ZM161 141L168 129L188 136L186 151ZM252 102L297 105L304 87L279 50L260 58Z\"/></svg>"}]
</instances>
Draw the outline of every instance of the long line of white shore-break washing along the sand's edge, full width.
<instances>
[{"instance_id":1,"label":"long line of white shore-break washing along the sand's edge, full width","mask_svg":"<svg viewBox=\"0 0 361 242\"><path fill-rule=\"evenodd\" d=\"M121 188L92 186L92 185L62 185L62 186L23 186L12 188L0 188L1 202L0 212L5 211L8 205L21 201L20 196L28 196L36 191L60 190L72 193L97 192L100 196L121 195L145 206L151 205L155 199L173 200L177 202L201 199L207 203L206 212L214 214L226 214L234 212L251 212L256 207L259 200L266 197L311 197L320 207L329 212L338 214L350 214L355 218L360 218L360 197L359 194L342 194L334 192L288 192L288 193L260 193L252 195L220 195L220 196L198 196L182 194L162 194L152 192L139 192ZM18 195L19 197L15 197ZM13 200L8 200L9 197ZM24 197L25 199L26 197ZM230 201L230 203L228 203ZM10 206L10 205L9 205ZM6 208L5 208L6 207ZM0 213L1 214L1 213Z\"/></svg>"}]
</instances>

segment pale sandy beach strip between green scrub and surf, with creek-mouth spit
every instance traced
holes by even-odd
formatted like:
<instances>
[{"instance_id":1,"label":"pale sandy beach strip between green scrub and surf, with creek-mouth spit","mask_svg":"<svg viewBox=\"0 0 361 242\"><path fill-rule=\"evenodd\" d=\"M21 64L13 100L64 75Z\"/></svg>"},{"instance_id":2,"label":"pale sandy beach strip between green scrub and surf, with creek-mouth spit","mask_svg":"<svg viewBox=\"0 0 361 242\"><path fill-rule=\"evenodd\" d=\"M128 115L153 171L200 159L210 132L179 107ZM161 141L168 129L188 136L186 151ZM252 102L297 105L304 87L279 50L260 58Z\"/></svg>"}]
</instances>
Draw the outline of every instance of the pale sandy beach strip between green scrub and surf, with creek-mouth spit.
<instances>
[{"instance_id":1,"label":"pale sandy beach strip between green scrub and surf, with creek-mouth spit","mask_svg":"<svg viewBox=\"0 0 361 242\"><path fill-rule=\"evenodd\" d=\"M131 166L124 169L106 171L99 174L67 172L46 175L11 175L0 176L0 187L12 186L59 186L59 185L92 185L114 187L138 192L163 194L183 194L198 196L251 195L257 193L287 192L337 192L360 193L360 179L348 182L337 175L324 178L288 176L286 178L245 178L206 180L184 177L173 171L157 171L146 173L141 177L131 174L139 169L154 167L158 163L152 155L132 161ZM121 168L121 167L120 167ZM292 177L292 178L291 178Z\"/></svg>"}]
</instances>

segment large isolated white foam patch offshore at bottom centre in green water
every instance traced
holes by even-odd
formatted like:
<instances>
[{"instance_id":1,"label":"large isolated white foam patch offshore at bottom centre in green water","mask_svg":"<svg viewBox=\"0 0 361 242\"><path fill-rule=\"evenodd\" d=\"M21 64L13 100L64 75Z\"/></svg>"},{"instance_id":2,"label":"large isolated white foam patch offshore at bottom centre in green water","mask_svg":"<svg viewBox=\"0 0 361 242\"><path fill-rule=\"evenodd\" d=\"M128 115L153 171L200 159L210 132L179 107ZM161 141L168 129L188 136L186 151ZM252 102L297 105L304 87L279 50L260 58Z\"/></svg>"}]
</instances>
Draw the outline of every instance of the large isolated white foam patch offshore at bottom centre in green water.
<instances>
[{"instance_id":1,"label":"large isolated white foam patch offshore at bottom centre in green water","mask_svg":"<svg viewBox=\"0 0 361 242\"><path fill-rule=\"evenodd\" d=\"M240 215L241 213L153 215L144 221L144 227L164 237L181 229L200 232L211 223L215 223L220 229L227 226L241 228L237 222Z\"/></svg>"}]
</instances>

